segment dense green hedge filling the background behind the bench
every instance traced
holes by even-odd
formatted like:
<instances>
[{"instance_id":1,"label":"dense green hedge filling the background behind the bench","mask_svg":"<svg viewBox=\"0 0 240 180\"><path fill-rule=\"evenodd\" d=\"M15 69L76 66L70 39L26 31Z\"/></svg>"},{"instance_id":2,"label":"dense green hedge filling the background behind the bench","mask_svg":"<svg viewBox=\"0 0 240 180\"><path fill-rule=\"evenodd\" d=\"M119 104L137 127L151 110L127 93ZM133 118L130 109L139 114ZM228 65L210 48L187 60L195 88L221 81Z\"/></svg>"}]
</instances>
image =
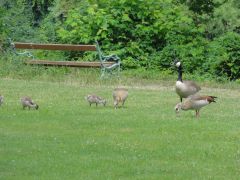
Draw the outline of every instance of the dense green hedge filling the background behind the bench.
<instances>
[{"instance_id":1,"label":"dense green hedge filling the background behind the bench","mask_svg":"<svg viewBox=\"0 0 240 180\"><path fill-rule=\"evenodd\" d=\"M187 73L240 78L238 0L2 0L0 5L0 40L97 40L103 52L121 57L123 69L169 72L179 58ZM94 53L60 56L96 59Z\"/></svg>"}]
</instances>

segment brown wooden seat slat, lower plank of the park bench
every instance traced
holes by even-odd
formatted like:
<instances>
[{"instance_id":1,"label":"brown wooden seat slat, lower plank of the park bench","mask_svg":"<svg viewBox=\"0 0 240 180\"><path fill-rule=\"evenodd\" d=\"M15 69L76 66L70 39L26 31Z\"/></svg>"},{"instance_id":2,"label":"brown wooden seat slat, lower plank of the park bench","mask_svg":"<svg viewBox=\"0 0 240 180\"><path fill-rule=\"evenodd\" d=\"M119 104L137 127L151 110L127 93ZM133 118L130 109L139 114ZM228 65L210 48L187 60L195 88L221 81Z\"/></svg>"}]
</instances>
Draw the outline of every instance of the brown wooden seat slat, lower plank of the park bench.
<instances>
[{"instance_id":1,"label":"brown wooden seat slat, lower plank of the park bench","mask_svg":"<svg viewBox=\"0 0 240 180\"><path fill-rule=\"evenodd\" d=\"M48 60L28 60L25 61L29 65L44 65L44 66L67 66L67 67L101 67L101 62L76 62L76 61L48 61ZM105 66L111 66L115 62L104 62Z\"/></svg>"}]
</instances>

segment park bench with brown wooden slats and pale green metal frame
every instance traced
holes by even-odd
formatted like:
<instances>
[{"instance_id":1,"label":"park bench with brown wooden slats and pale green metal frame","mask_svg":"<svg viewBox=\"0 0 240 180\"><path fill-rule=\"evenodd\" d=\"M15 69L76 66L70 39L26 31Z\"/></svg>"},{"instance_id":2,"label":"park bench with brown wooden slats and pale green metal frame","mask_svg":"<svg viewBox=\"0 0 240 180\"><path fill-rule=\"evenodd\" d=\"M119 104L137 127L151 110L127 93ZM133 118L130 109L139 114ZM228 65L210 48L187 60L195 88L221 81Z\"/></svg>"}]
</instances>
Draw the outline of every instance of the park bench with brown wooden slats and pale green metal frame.
<instances>
[{"instance_id":1,"label":"park bench with brown wooden slats and pale green metal frame","mask_svg":"<svg viewBox=\"0 0 240 180\"><path fill-rule=\"evenodd\" d=\"M119 76L121 60L117 55L105 56L96 41L96 45L73 45L73 44L36 44L11 42L11 47L16 55L26 55L30 60L25 60L28 65L44 65L44 66L66 66L66 67L81 67L81 68L101 68L101 77L107 74L117 73ZM62 50L62 51L97 51L98 61L51 61L38 60L28 51L17 52L17 49L31 50Z\"/></svg>"}]
</instances>

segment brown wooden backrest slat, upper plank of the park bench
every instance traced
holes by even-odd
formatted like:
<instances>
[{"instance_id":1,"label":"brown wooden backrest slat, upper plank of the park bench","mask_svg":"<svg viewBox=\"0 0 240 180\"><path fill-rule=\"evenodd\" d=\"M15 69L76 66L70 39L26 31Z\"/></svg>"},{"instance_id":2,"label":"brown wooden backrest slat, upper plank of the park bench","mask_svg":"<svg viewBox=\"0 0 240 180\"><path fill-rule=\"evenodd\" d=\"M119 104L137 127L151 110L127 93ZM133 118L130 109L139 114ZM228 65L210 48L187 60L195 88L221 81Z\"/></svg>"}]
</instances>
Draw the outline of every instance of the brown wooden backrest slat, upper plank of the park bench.
<instances>
[{"instance_id":1,"label":"brown wooden backrest slat, upper plank of the park bench","mask_svg":"<svg viewBox=\"0 0 240 180\"><path fill-rule=\"evenodd\" d=\"M67 50L67 51L96 51L95 45L72 45L72 44L35 44L14 42L17 49L44 49L44 50Z\"/></svg>"}]
</instances>

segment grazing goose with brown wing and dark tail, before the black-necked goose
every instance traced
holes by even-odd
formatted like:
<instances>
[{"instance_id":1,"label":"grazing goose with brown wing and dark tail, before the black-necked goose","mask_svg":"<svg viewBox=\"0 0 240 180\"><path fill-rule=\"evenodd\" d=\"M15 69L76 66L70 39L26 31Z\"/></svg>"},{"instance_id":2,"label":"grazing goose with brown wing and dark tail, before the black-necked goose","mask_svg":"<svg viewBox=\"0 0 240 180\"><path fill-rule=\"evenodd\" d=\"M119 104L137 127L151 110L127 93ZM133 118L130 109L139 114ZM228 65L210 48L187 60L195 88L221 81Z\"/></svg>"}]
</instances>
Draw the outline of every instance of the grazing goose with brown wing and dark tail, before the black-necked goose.
<instances>
[{"instance_id":1,"label":"grazing goose with brown wing and dark tail, before the black-necked goose","mask_svg":"<svg viewBox=\"0 0 240 180\"><path fill-rule=\"evenodd\" d=\"M178 103L175 106L175 111L178 114L180 110L195 110L196 117L199 117L199 111L202 107L216 102L216 96L200 96L200 95L191 95L184 102Z\"/></svg>"}]
</instances>

